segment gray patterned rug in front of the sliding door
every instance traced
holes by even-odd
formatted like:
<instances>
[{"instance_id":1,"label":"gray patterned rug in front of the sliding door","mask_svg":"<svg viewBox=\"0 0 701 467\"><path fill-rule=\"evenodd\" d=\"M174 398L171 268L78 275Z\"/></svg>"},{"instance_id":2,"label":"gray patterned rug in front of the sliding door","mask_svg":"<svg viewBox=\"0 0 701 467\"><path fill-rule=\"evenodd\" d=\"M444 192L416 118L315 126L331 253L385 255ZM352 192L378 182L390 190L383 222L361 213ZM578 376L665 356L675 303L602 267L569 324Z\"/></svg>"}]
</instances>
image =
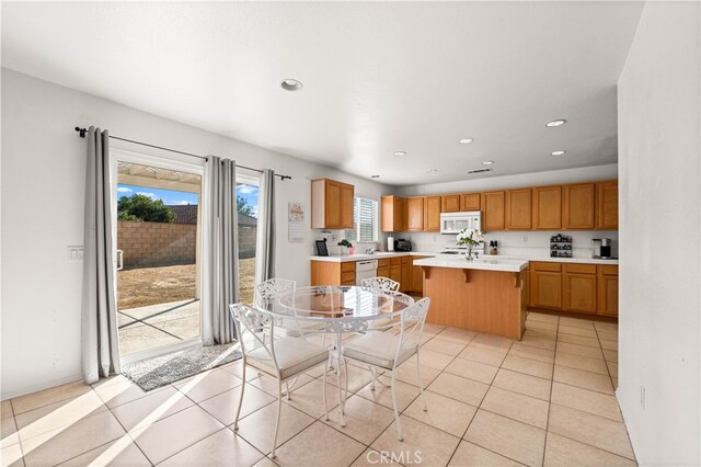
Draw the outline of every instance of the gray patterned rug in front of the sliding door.
<instances>
[{"instance_id":1,"label":"gray patterned rug in front of the sliding door","mask_svg":"<svg viewBox=\"0 0 701 467\"><path fill-rule=\"evenodd\" d=\"M122 374L149 391L241 358L234 346L235 343L189 348L130 363L122 367Z\"/></svg>"}]
</instances>

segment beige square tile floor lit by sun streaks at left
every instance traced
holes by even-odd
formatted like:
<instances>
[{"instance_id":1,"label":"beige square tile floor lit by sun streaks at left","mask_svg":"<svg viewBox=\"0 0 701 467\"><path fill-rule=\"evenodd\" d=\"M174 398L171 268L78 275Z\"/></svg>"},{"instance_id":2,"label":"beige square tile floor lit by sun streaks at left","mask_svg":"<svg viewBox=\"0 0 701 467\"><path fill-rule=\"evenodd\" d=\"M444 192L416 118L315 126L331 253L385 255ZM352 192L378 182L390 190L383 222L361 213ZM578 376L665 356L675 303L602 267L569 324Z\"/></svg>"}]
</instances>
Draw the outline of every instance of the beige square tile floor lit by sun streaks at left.
<instances>
[{"instance_id":1,"label":"beige square tile floor lit by sun streaks at left","mask_svg":"<svg viewBox=\"0 0 701 467\"><path fill-rule=\"evenodd\" d=\"M427 326L417 399L415 360L399 371L404 442L390 390L349 366L346 428L324 421L321 367L283 403L275 463L349 465L635 465L613 396L617 326L529 314L521 342ZM2 402L2 465L261 465L275 423L276 383L237 362L148 394L122 376ZM386 377L381 377L387 381ZM327 379L330 407L337 400ZM382 457L383 456L383 457Z\"/></svg>"}]
</instances>

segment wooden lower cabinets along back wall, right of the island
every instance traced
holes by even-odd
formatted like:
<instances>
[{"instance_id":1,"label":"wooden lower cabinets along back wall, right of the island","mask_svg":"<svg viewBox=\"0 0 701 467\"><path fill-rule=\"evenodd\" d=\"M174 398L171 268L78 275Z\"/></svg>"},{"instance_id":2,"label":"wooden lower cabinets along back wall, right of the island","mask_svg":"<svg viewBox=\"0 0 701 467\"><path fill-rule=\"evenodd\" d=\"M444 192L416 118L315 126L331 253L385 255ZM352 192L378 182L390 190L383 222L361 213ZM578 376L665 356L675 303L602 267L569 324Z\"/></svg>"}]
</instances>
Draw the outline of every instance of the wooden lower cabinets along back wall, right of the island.
<instances>
[{"instance_id":1,"label":"wooden lower cabinets along back wall, right of the island","mask_svg":"<svg viewBox=\"0 0 701 467\"><path fill-rule=\"evenodd\" d=\"M528 306L618 316L618 265L530 263Z\"/></svg>"}]
</instances>

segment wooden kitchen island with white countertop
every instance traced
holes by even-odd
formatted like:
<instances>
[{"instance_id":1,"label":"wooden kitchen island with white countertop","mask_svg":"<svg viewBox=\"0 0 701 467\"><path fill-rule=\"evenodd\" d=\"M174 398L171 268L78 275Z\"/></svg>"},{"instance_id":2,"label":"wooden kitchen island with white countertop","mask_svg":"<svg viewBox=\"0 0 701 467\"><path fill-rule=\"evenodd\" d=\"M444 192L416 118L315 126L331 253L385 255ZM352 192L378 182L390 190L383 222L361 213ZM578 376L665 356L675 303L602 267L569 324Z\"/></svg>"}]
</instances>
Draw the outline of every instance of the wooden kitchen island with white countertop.
<instances>
[{"instance_id":1,"label":"wooden kitchen island with white countertop","mask_svg":"<svg viewBox=\"0 0 701 467\"><path fill-rule=\"evenodd\" d=\"M520 340L526 330L528 261L462 255L414 262L430 297L427 322Z\"/></svg>"}]
</instances>

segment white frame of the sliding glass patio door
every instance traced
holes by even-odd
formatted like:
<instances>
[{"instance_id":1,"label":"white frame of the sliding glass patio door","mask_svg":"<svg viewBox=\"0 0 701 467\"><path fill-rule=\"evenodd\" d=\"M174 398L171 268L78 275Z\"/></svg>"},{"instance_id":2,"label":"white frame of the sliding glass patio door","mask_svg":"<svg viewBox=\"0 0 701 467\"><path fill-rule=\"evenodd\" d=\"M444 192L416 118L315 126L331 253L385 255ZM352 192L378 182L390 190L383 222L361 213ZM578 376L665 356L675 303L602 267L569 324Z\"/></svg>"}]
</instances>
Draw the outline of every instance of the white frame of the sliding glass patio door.
<instances>
[{"instance_id":1,"label":"white frame of the sliding glass patio door","mask_svg":"<svg viewBox=\"0 0 701 467\"><path fill-rule=\"evenodd\" d=\"M181 172L187 172L187 173L193 173L196 175L199 175L202 179L202 183L200 183L200 193L199 193L199 212L202 213L203 209L203 204L204 204L204 196L202 193L202 189L204 187L204 179L205 179L205 160L204 159L199 159L199 158L194 158L194 157L189 157L189 156L181 156L177 153L173 153L172 156L169 157L159 157L159 156L153 156L153 155L147 155L143 152L135 152L135 151L130 151L130 150L125 150L125 149L118 149L118 148L112 148L110 151L110 196L112 200L117 200L118 201L118 192L117 192L117 178L119 175L119 172L117 170L117 162L122 161L122 162L131 162L131 163L138 163L140 166L154 166L154 167L160 167L163 169L169 169L169 170L177 170ZM112 205L112 239L113 239L113 244L114 244L114 251L112 254L112 267L113 267L113 272L114 272L114 277L115 277L115 284L114 284L114 291L115 291L115 295L118 293L117 291L117 203L113 203ZM195 255L197 259L202 258L203 254L203 250L202 250L202 226L203 226L203 218L200 215L197 216L197 234L196 234L196 238L197 238L197 246L196 246L196 252ZM202 288L202 273L199 271L200 269L200 264L199 261L197 261L197 266L195 267L195 274L196 274L196 285L195 288L196 291L199 291ZM115 304L117 303L117 297L115 296ZM118 311L118 309L117 309ZM159 355L163 355L166 353L171 353L171 352L176 352L186 348L191 348L194 345L200 345L202 344L202 326L203 326L203 314L202 314L202 307L199 309L199 330L200 330L200 335L197 338L192 338L192 339L186 339L182 342L175 342L172 344L166 344L166 345L162 345L162 346L158 346L158 348L153 348L153 349L148 349L141 352L136 352L133 353L130 355L122 355L122 351L119 351L119 360L122 362L123 365L126 364L130 364L134 362L139 362L142 360L148 360L148 358L153 358L157 357ZM115 320L116 320L116 312L115 312ZM112 323L113 326L115 326L115 328L117 327L117 322L115 321L114 323ZM117 330L118 332L118 330ZM118 338L117 338L118 340Z\"/></svg>"}]
</instances>

